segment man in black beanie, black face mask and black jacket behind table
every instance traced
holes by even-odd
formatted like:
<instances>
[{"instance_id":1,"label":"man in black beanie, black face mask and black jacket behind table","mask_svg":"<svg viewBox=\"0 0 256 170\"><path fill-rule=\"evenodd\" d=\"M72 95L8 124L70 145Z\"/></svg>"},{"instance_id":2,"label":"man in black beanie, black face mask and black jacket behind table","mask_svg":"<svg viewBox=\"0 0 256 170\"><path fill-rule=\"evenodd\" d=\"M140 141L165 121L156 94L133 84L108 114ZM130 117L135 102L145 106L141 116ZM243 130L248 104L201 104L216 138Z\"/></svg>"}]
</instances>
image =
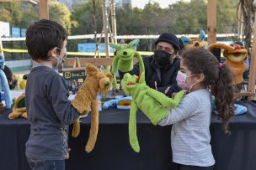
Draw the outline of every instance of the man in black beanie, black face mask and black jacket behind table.
<instances>
[{"instance_id":1,"label":"man in black beanie, black face mask and black jacket behind table","mask_svg":"<svg viewBox=\"0 0 256 170\"><path fill-rule=\"evenodd\" d=\"M179 39L173 33L162 33L155 42L155 54L143 57L145 80L148 86L171 96L181 90L176 82L179 71ZM125 73L120 72L120 77ZM139 75L139 64L135 64L131 75Z\"/></svg>"}]
</instances>

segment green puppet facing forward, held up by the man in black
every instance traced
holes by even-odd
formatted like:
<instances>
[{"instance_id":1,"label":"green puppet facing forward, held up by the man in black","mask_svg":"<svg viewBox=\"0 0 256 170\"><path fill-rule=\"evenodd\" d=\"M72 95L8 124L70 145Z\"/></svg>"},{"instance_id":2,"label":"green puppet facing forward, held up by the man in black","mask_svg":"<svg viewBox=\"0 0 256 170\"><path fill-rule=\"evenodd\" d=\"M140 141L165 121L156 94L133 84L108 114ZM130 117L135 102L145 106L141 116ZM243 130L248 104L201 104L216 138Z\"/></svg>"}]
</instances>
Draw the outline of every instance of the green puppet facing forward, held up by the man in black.
<instances>
[{"instance_id":1,"label":"green puppet facing forward, held up by the man in black","mask_svg":"<svg viewBox=\"0 0 256 170\"><path fill-rule=\"evenodd\" d=\"M128 72L133 69L133 58L136 57L138 59L140 65L140 72L144 71L144 64L141 58L141 54L136 52L136 46L140 42L139 39L134 39L129 44L112 44L109 43L110 47L116 49L115 58L112 62L112 70L113 74L113 90L116 90L116 71L117 69L122 72Z\"/></svg>"}]
</instances>

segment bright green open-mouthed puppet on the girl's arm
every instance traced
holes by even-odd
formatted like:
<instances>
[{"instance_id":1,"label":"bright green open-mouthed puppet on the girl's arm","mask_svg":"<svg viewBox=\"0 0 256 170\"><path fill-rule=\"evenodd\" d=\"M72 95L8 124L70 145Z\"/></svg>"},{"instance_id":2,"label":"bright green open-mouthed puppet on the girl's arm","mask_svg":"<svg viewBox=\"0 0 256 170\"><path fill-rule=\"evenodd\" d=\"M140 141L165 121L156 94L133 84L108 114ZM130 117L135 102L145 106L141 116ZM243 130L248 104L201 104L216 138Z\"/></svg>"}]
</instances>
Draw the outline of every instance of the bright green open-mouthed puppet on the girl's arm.
<instances>
[{"instance_id":1,"label":"bright green open-mouthed puppet on the girl's arm","mask_svg":"<svg viewBox=\"0 0 256 170\"><path fill-rule=\"evenodd\" d=\"M180 91L175 95L174 99L169 98L146 85L144 72L139 77L126 73L121 84L125 94L132 97L129 118L130 144L135 152L140 152L136 136L136 112L138 108L148 117L153 125L157 125L158 121L168 116L171 108L178 106L184 91Z\"/></svg>"}]
</instances>

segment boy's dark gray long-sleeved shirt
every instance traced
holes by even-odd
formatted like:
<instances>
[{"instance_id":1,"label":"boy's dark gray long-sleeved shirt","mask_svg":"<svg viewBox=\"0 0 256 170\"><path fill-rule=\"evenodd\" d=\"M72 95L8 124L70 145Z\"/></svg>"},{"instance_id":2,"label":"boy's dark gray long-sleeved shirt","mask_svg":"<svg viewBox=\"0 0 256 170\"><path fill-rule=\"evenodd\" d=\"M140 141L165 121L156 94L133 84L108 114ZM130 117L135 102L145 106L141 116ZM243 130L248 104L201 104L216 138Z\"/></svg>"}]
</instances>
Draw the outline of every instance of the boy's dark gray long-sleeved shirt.
<instances>
[{"instance_id":1,"label":"boy's dark gray long-sleeved shirt","mask_svg":"<svg viewBox=\"0 0 256 170\"><path fill-rule=\"evenodd\" d=\"M25 101L30 124L26 156L41 160L63 160L67 156L68 126L79 116L71 105L61 75L46 66L28 75Z\"/></svg>"}]
</instances>

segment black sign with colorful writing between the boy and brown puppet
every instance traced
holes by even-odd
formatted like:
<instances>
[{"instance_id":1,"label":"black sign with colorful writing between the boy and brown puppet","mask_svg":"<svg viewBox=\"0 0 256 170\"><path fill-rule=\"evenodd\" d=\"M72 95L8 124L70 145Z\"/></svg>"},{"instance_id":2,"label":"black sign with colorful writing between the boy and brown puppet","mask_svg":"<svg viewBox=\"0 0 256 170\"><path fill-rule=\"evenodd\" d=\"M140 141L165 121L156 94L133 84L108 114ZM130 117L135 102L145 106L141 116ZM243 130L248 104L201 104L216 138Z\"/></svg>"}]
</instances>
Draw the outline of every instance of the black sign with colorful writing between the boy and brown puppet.
<instances>
[{"instance_id":1,"label":"black sign with colorful writing between the boy and brown puppet","mask_svg":"<svg viewBox=\"0 0 256 170\"><path fill-rule=\"evenodd\" d=\"M77 91L83 85L83 81L86 79L85 70L77 70L73 68L70 70L63 70L63 77L65 79L69 92L73 95L77 94ZM81 68L79 68L81 69Z\"/></svg>"}]
</instances>

